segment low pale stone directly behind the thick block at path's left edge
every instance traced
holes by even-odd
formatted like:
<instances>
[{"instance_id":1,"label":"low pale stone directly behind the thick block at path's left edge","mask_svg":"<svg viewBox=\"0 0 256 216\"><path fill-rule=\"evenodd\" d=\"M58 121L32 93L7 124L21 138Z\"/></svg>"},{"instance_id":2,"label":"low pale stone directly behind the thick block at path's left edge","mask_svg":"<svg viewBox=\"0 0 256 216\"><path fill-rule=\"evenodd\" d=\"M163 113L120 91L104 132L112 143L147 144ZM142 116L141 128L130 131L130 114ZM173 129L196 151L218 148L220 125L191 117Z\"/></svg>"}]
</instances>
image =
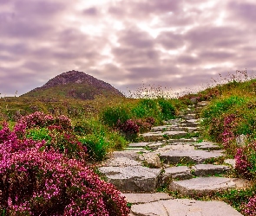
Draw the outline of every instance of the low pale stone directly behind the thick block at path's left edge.
<instances>
[{"instance_id":1,"label":"low pale stone directly behind the thick block at path's left edge","mask_svg":"<svg viewBox=\"0 0 256 216\"><path fill-rule=\"evenodd\" d=\"M106 162L102 162L105 167L128 167L128 166L140 166L141 162L129 159L128 157L120 156L108 159Z\"/></svg>"}]
</instances>

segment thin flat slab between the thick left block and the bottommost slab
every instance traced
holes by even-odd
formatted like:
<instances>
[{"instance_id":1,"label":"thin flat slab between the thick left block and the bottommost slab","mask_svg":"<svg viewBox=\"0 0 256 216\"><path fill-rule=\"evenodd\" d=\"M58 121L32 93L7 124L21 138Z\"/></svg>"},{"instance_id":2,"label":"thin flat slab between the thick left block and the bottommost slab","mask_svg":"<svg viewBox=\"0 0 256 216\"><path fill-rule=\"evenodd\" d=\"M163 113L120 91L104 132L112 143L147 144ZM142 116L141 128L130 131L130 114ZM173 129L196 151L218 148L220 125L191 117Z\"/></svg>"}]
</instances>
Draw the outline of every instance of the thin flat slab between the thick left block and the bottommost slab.
<instances>
[{"instance_id":1,"label":"thin flat slab between the thick left block and the bottommost slab","mask_svg":"<svg viewBox=\"0 0 256 216\"><path fill-rule=\"evenodd\" d=\"M170 200L171 197L165 193L154 193L154 194L121 194L125 196L128 203L141 204L147 202L154 202L160 200Z\"/></svg>"}]
</instances>

